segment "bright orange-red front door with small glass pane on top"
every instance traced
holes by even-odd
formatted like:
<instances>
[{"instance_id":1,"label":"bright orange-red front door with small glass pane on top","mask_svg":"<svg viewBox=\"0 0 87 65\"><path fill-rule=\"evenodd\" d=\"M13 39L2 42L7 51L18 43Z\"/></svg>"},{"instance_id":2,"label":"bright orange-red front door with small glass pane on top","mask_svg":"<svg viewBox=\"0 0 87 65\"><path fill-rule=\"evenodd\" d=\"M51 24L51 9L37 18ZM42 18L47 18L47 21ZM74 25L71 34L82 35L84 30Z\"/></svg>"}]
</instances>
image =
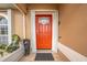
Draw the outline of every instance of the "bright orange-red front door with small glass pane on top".
<instances>
[{"instance_id":1,"label":"bright orange-red front door with small glass pane on top","mask_svg":"<svg viewBox=\"0 0 87 65\"><path fill-rule=\"evenodd\" d=\"M35 15L36 48L52 48L52 14Z\"/></svg>"}]
</instances>

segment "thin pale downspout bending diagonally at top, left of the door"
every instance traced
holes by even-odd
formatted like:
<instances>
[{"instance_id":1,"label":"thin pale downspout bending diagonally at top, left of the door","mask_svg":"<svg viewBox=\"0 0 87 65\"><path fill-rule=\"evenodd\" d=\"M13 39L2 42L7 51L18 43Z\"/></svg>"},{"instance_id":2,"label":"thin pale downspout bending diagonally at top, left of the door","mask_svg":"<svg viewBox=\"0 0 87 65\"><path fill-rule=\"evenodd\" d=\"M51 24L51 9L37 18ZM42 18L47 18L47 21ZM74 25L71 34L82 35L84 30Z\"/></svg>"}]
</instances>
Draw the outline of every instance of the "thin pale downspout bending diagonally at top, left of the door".
<instances>
[{"instance_id":1,"label":"thin pale downspout bending diagonally at top, left of the door","mask_svg":"<svg viewBox=\"0 0 87 65\"><path fill-rule=\"evenodd\" d=\"M13 3L13 6L22 13L22 18L23 18L23 21L22 21L23 30L22 30L22 32L23 32L23 39L25 39L25 21L26 21L25 17L26 17L26 14L22 11L22 9L18 4Z\"/></svg>"}]
</instances>

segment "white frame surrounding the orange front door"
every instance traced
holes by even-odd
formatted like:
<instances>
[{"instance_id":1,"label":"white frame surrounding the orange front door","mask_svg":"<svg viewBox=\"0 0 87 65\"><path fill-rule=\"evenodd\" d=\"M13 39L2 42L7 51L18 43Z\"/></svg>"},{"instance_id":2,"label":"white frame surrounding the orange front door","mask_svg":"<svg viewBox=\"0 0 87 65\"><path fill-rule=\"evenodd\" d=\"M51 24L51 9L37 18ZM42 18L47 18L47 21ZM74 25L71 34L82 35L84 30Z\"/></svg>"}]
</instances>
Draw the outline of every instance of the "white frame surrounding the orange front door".
<instances>
[{"instance_id":1,"label":"white frame surrounding the orange front door","mask_svg":"<svg viewBox=\"0 0 87 65\"><path fill-rule=\"evenodd\" d=\"M58 41L58 11L57 10L31 10L31 50L36 53L35 12L50 12L52 14L52 52L57 53ZM43 14L43 13L42 13ZM56 19L57 18L57 19Z\"/></svg>"}]
</instances>

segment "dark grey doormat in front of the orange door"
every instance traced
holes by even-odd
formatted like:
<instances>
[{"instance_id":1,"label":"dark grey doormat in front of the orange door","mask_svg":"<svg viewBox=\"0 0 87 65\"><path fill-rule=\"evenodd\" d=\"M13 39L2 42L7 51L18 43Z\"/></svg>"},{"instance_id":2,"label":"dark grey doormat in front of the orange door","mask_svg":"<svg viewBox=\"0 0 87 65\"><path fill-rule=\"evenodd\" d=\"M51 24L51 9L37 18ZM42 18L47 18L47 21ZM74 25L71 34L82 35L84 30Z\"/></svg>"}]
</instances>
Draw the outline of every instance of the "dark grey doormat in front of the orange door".
<instances>
[{"instance_id":1,"label":"dark grey doormat in front of the orange door","mask_svg":"<svg viewBox=\"0 0 87 65\"><path fill-rule=\"evenodd\" d=\"M35 61L54 61L52 53L36 53Z\"/></svg>"}]
</instances>

